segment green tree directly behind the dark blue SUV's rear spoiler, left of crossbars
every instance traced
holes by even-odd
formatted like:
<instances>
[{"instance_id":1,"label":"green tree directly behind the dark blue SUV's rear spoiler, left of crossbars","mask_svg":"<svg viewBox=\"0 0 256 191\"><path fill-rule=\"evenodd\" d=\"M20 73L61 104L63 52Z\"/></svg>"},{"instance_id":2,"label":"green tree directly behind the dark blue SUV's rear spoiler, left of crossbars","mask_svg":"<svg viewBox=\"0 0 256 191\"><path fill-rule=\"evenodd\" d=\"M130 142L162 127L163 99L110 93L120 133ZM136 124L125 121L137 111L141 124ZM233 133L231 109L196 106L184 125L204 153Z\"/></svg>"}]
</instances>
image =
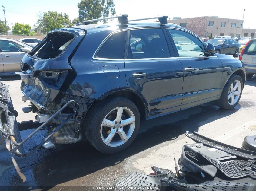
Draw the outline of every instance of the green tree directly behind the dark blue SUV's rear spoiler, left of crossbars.
<instances>
[{"instance_id":1,"label":"green tree directly behind the dark blue SUV's rear spoiler, left of crossbars","mask_svg":"<svg viewBox=\"0 0 256 191\"><path fill-rule=\"evenodd\" d=\"M66 13L63 15L62 13L57 13L56 11L48 11L40 13L38 16L39 19L35 24L35 32L40 29L42 34L47 34L53 29L72 26L72 23Z\"/></svg>"}]
</instances>

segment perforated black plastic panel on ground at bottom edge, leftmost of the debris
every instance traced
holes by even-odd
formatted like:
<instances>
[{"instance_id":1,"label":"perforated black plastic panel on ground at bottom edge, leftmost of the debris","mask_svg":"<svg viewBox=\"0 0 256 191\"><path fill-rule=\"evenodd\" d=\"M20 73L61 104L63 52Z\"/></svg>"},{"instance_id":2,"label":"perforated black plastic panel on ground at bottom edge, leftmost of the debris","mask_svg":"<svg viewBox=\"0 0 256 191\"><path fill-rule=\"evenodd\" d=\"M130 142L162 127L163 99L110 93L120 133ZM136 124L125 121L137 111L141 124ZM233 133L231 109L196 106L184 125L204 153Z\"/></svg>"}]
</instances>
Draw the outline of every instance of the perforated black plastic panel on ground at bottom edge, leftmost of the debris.
<instances>
[{"instance_id":1,"label":"perforated black plastic panel on ground at bottom edge, leftmost of the debris","mask_svg":"<svg viewBox=\"0 0 256 191\"><path fill-rule=\"evenodd\" d=\"M126 177L121 178L115 184L116 191L155 191L159 188L160 178L169 178L169 174L147 175L138 172L128 174ZM140 189L141 188L141 189Z\"/></svg>"}]
</instances>

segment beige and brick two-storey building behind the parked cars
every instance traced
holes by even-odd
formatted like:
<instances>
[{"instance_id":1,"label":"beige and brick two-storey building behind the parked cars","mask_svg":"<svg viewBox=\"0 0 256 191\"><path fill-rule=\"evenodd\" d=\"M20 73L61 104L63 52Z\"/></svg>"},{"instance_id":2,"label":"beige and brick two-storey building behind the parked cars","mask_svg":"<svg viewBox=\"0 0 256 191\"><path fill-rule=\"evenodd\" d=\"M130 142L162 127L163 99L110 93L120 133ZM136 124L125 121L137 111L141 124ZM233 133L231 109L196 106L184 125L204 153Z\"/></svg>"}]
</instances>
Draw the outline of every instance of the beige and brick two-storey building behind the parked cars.
<instances>
[{"instance_id":1,"label":"beige and brick two-storey building behind the parked cars","mask_svg":"<svg viewBox=\"0 0 256 191\"><path fill-rule=\"evenodd\" d=\"M215 38L221 35L231 37L255 37L256 29L243 29L243 20L205 16L194 18L174 17L168 23L178 24L202 38Z\"/></svg>"}]
</instances>

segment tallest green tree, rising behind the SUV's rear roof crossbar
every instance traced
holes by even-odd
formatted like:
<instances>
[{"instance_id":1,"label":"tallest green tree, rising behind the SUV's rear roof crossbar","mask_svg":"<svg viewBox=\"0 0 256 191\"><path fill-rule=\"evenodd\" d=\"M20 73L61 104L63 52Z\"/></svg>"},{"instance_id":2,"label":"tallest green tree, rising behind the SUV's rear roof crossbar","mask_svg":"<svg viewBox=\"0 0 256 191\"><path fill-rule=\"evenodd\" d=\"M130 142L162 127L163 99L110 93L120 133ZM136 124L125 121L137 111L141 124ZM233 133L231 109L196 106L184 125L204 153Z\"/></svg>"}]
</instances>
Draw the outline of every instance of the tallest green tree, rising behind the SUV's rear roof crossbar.
<instances>
[{"instance_id":1,"label":"tallest green tree, rising behind the SUV's rear roof crossbar","mask_svg":"<svg viewBox=\"0 0 256 191\"><path fill-rule=\"evenodd\" d=\"M115 3L113 0L81 0L77 6L79 13L78 19L80 22L89 19L109 17L115 14Z\"/></svg>"}]
</instances>

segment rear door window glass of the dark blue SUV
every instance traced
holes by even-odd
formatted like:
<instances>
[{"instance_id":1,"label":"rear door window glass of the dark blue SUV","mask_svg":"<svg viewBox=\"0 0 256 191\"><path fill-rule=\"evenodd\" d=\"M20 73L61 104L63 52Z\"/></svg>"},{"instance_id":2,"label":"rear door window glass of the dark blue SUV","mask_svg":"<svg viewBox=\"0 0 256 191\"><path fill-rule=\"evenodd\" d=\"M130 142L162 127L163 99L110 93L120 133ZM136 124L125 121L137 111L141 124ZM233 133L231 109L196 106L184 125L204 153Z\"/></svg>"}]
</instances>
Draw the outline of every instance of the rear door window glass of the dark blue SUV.
<instances>
[{"instance_id":1,"label":"rear door window glass of the dark blue SUV","mask_svg":"<svg viewBox=\"0 0 256 191\"><path fill-rule=\"evenodd\" d=\"M162 29L130 30L128 59L168 57L170 52Z\"/></svg>"}]
</instances>

